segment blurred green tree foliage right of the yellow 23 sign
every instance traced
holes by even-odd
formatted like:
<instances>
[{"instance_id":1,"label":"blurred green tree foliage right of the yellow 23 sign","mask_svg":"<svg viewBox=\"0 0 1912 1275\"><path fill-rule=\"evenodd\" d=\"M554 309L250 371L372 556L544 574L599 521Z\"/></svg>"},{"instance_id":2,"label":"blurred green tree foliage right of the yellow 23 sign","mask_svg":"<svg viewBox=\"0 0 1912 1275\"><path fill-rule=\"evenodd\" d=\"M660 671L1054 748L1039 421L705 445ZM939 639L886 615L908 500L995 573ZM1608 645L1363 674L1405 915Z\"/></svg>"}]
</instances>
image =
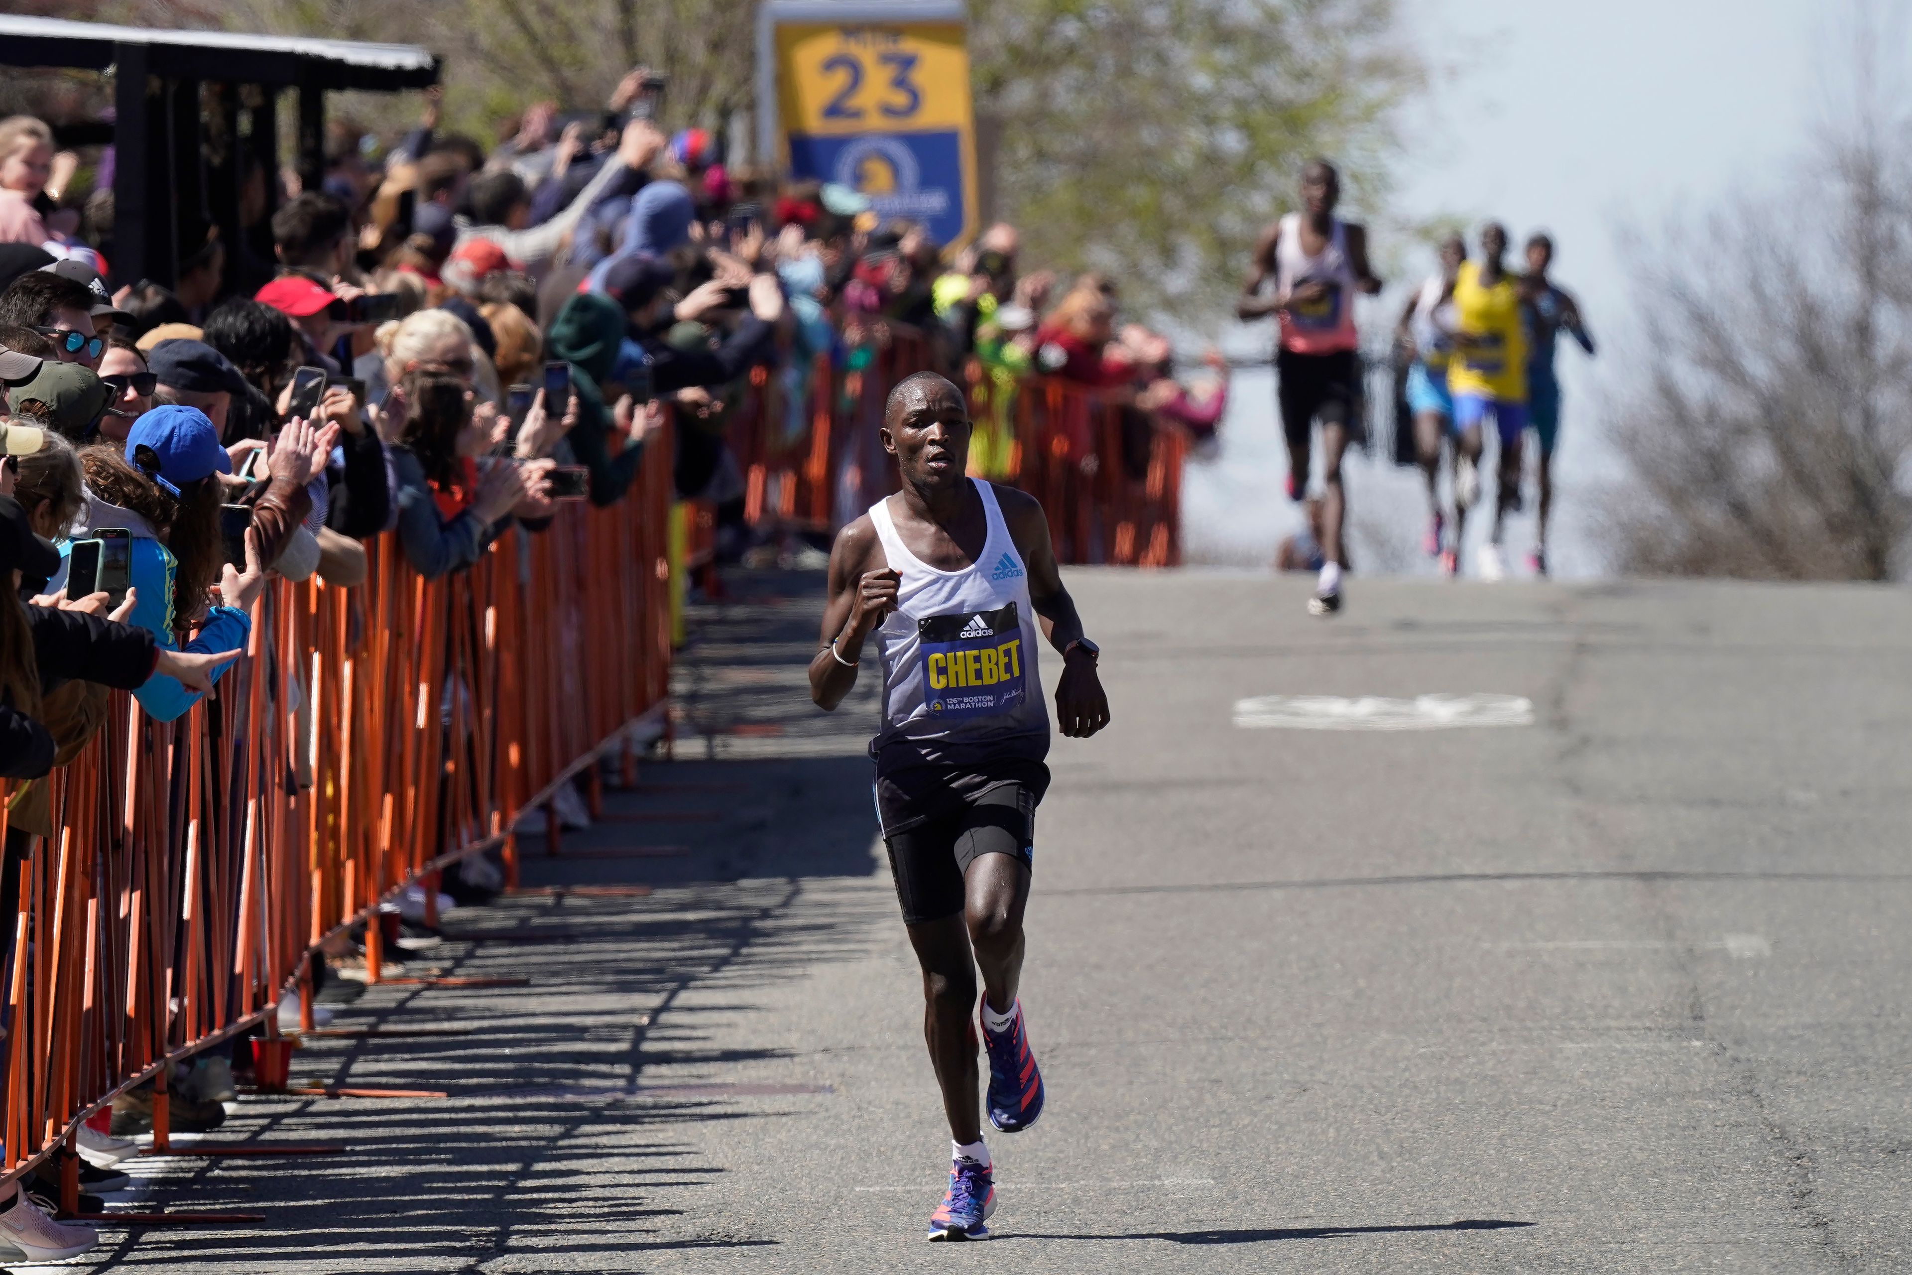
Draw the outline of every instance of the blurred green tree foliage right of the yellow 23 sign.
<instances>
[{"instance_id":1,"label":"blurred green tree foliage right of the yellow 23 sign","mask_svg":"<svg viewBox=\"0 0 1912 1275\"><path fill-rule=\"evenodd\" d=\"M1329 155L1373 210L1423 82L1394 0L971 0L998 210L1034 260L1210 315Z\"/></svg>"}]
</instances>

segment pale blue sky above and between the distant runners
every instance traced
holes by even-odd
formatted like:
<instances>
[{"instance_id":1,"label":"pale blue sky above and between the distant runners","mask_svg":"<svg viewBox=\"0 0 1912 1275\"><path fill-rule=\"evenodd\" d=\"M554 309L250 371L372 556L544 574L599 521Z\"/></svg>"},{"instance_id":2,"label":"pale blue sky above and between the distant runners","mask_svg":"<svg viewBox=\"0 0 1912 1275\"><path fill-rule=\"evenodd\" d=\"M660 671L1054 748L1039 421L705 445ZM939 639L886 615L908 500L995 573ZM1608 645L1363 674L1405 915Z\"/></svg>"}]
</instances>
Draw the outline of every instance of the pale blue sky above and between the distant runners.
<instances>
[{"instance_id":1,"label":"pale blue sky above and between the distant runners","mask_svg":"<svg viewBox=\"0 0 1912 1275\"><path fill-rule=\"evenodd\" d=\"M1554 279L1575 292L1598 359L1562 340L1560 451L1554 457L1554 570L1606 570L1589 512L1600 484L1619 474L1602 443L1602 394L1625 375L1635 296L1627 229L1654 239L1669 218L1719 205L1784 174L1809 145L1849 65L1843 0L1403 0L1411 38L1436 80L1407 115L1413 147L1400 172L1400 224L1451 214L1497 218L1520 243L1547 229ZM1902 40L1899 40L1902 52ZM1902 57L1899 59L1904 61ZM1832 75L1828 75L1832 73ZM1348 210L1348 216L1377 210ZM1432 270L1432 252L1405 260L1405 279L1363 313L1392 325L1405 292ZM1268 335L1237 331L1231 350L1266 352ZM1222 457L1191 466L1187 541L1195 556L1266 564L1293 518L1279 491L1283 445L1271 378L1245 373L1226 422ZM1432 572L1413 549L1424 526L1419 476L1356 466L1348 478L1356 570ZM1468 541L1484 529L1474 518ZM1509 529L1526 556L1530 524Z\"/></svg>"}]
</instances>

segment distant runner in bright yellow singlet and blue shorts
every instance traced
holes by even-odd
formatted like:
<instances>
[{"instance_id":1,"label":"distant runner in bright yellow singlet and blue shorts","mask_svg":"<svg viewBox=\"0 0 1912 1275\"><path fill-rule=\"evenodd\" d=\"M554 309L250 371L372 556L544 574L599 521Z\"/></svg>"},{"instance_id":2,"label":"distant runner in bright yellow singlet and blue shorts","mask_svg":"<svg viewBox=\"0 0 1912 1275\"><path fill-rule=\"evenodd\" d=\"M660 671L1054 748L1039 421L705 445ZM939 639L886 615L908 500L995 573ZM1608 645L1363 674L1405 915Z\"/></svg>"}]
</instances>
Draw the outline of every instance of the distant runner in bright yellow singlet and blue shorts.
<instances>
[{"instance_id":1,"label":"distant runner in bright yellow singlet and blue shorts","mask_svg":"<svg viewBox=\"0 0 1912 1275\"><path fill-rule=\"evenodd\" d=\"M1507 229L1488 222L1480 229L1480 260L1461 262L1453 279L1453 359L1447 390L1461 459L1453 480L1453 543L1461 545L1467 510L1480 495L1480 422L1493 417L1501 432L1501 482L1493 505L1493 539L1480 554L1480 577L1501 579L1501 528L1507 510L1520 503L1520 434L1528 428L1528 354L1520 331L1520 292L1501 264Z\"/></svg>"}]
</instances>

